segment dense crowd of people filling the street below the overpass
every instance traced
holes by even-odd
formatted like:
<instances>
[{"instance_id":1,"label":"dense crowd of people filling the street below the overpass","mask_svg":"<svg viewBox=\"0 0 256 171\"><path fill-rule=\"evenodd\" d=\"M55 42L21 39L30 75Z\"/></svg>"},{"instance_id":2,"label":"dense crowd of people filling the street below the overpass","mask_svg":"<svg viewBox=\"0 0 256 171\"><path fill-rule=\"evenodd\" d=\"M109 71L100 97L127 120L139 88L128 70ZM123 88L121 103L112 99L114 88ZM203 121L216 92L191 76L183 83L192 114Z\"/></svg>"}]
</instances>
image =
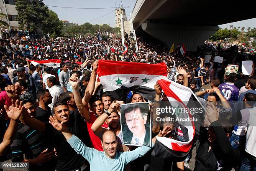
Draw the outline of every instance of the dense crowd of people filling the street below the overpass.
<instances>
[{"instance_id":1,"label":"dense crowd of people filling the street below the overpass","mask_svg":"<svg viewBox=\"0 0 256 171\"><path fill-rule=\"evenodd\" d=\"M0 162L28 162L31 171L182 171L193 169L196 147L195 171L256 170L254 65L251 75L241 72L242 61L255 60L255 55L212 42L185 55L179 46L169 53L156 40L126 34L125 53L117 35L107 40L0 40ZM212 55L209 63L207 53ZM214 61L216 55L223 57L222 63ZM30 62L49 59L61 60L60 67ZM185 160L154 157L154 147L123 144L120 105L148 100L134 91L125 102L105 93L97 79L99 60L165 63L167 78L195 93L193 100L205 107L205 115L195 123L194 145ZM228 64L239 65L238 73L226 75ZM158 83L155 91L152 110L154 103L168 101ZM153 126L152 135L154 144L156 136L183 134L179 126Z\"/></svg>"}]
</instances>

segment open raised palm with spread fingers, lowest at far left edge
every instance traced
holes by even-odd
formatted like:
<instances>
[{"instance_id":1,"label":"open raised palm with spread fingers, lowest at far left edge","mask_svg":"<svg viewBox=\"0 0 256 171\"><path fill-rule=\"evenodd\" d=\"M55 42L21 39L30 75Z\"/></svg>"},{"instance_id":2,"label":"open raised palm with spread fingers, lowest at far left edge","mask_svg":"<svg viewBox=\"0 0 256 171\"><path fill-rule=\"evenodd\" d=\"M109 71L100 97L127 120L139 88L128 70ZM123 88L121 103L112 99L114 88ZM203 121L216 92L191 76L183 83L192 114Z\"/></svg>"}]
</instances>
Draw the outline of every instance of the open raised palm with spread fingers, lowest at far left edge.
<instances>
[{"instance_id":1,"label":"open raised palm with spread fingers, lowest at far left edge","mask_svg":"<svg viewBox=\"0 0 256 171\"><path fill-rule=\"evenodd\" d=\"M23 112L24 106L19 100L12 100L12 106L4 105L5 111L10 119L18 121L21 113Z\"/></svg>"}]
</instances>

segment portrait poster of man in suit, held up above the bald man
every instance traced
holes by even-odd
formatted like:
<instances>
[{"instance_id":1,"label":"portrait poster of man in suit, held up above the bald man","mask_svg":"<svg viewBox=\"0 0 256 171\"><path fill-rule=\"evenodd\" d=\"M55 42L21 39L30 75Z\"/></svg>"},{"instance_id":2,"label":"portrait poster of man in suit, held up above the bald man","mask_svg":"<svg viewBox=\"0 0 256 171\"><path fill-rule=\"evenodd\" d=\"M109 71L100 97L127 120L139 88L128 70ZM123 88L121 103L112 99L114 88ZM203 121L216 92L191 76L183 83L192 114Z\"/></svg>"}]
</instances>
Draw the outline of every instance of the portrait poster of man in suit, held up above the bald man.
<instances>
[{"instance_id":1,"label":"portrait poster of man in suit, held up above the bald man","mask_svg":"<svg viewBox=\"0 0 256 171\"><path fill-rule=\"evenodd\" d=\"M148 103L120 105L123 143L130 146L151 146L151 119Z\"/></svg>"}]
</instances>

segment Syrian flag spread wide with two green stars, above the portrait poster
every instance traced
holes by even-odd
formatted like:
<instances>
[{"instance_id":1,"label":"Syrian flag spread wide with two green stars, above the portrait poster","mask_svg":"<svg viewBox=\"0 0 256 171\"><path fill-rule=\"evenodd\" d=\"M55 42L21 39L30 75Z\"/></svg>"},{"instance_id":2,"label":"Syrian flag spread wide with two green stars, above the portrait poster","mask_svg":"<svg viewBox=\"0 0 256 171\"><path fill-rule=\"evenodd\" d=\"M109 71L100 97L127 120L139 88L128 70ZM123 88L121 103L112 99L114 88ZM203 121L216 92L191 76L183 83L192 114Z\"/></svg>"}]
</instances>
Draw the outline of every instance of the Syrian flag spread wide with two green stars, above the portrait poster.
<instances>
[{"instance_id":1,"label":"Syrian flag spread wide with two green stars, above the portrait poster","mask_svg":"<svg viewBox=\"0 0 256 171\"><path fill-rule=\"evenodd\" d=\"M165 63L146 64L99 60L97 74L108 96L126 100L129 91L153 101L156 81L167 76Z\"/></svg>"}]
</instances>

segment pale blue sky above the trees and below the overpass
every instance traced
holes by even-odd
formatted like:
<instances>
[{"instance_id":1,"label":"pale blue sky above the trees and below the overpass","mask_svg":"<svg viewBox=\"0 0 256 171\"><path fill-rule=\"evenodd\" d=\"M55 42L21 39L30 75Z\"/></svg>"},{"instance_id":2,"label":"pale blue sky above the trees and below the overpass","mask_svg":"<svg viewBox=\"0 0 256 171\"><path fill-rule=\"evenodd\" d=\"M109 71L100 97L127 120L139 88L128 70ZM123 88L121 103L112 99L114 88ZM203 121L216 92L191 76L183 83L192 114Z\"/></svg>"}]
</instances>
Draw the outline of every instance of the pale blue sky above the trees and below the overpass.
<instances>
[{"instance_id":1,"label":"pale blue sky above the trees and below the overpass","mask_svg":"<svg viewBox=\"0 0 256 171\"><path fill-rule=\"evenodd\" d=\"M49 9L53 10L55 13L58 14L58 17L60 20L68 20L69 23L78 23L79 25L82 25L87 22L94 25L108 24L111 27L115 27L115 11L114 11L115 7L121 6L122 3L123 3L123 7L125 8L126 15L130 15L136 3L136 0L44 0L44 4L46 6L51 5L51 6L69 7L69 8L58 8L58 7L48 6ZM109 9L72 9L72 8L109 8ZM256 18L238 21L234 23L227 23L227 24L219 25L219 27L230 29L230 25L233 25L233 27L236 27L236 28L238 26L240 26L241 28L245 27L245 31L246 31L248 27L256 28Z\"/></svg>"}]
</instances>

